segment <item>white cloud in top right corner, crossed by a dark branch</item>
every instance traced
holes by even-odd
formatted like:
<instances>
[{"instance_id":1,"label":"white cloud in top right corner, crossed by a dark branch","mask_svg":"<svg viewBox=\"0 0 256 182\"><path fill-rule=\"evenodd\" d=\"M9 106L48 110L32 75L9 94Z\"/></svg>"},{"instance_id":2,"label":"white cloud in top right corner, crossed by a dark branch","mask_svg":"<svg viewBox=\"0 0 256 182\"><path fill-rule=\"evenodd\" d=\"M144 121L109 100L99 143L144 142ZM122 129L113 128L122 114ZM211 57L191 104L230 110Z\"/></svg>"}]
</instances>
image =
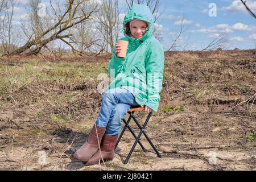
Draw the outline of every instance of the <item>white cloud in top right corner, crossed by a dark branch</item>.
<instances>
[{"instance_id":1,"label":"white cloud in top right corner, crossed by a dark branch","mask_svg":"<svg viewBox=\"0 0 256 182\"><path fill-rule=\"evenodd\" d=\"M250 7L251 10L256 10L256 1L247 0L246 5ZM245 6L240 0L233 1L231 5L222 7L222 10L226 11L246 11Z\"/></svg>"}]
</instances>

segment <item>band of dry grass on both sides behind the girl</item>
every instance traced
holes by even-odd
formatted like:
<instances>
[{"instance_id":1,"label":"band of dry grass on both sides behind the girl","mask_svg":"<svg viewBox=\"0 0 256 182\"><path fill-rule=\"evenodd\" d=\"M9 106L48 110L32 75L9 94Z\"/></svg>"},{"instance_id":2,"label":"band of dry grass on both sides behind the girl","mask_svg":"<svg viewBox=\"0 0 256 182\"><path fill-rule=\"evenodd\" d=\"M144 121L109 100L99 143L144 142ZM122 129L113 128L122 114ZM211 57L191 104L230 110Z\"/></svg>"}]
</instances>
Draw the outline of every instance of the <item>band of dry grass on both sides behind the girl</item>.
<instances>
[{"instance_id":1,"label":"band of dry grass on both sides behind the girl","mask_svg":"<svg viewBox=\"0 0 256 182\"><path fill-rule=\"evenodd\" d=\"M16 105L29 112L48 109L65 113L59 117L66 120L71 114L76 118L82 107L100 105L97 76L107 73L108 56L2 57L0 106ZM253 50L166 52L162 96L168 100L168 96L182 93L195 104L223 96L249 97L255 93L255 73ZM161 104L168 106L167 102ZM51 111L45 113L51 115Z\"/></svg>"}]
</instances>

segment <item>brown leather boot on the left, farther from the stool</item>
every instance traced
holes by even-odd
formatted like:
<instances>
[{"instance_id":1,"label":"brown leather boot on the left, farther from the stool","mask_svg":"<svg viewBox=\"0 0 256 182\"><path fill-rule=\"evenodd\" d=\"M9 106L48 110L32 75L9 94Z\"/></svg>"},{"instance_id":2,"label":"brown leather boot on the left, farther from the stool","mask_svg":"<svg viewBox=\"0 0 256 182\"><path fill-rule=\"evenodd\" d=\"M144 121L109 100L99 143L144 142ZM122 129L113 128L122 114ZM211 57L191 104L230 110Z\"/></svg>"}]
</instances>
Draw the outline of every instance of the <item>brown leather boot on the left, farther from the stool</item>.
<instances>
[{"instance_id":1,"label":"brown leather boot on the left, farther from the stool","mask_svg":"<svg viewBox=\"0 0 256 182\"><path fill-rule=\"evenodd\" d=\"M96 132L96 125L93 126L88 139L86 142L77 150L74 154L74 158L80 160L82 162L87 162L92 156L98 151L98 142L101 143L102 136L106 131L106 127L97 127ZM98 133L98 138L97 138Z\"/></svg>"}]
</instances>

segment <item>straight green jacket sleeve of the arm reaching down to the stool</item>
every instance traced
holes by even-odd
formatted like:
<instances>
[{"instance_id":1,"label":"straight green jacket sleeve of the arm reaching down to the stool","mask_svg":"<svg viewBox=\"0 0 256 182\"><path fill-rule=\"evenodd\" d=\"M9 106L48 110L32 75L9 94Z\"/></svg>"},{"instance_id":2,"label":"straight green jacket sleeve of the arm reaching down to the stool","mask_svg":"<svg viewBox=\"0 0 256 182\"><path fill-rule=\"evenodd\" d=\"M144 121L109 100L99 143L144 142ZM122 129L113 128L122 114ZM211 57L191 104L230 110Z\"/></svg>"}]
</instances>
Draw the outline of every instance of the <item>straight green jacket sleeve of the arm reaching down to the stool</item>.
<instances>
[{"instance_id":1,"label":"straight green jacket sleeve of the arm reaching down to the stool","mask_svg":"<svg viewBox=\"0 0 256 182\"><path fill-rule=\"evenodd\" d=\"M145 105L157 111L164 71L164 51L160 43L150 46L145 67L147 72L147 101Z\"/></svg>"}]
</instances>

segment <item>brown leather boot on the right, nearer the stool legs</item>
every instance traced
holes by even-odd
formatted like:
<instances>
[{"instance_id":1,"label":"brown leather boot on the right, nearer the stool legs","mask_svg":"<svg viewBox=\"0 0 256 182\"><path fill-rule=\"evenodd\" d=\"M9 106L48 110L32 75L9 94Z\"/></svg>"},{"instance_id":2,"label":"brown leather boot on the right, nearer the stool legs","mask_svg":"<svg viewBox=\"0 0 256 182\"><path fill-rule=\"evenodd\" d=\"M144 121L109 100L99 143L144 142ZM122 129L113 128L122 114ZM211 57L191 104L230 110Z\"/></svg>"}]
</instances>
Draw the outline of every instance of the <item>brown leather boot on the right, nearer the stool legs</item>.
<instances>
[{"instance_id":1,"label":"brown leather boot on the right, nearer the stool legs","mask_svg":"<svg viewBox=\"0 0 256 182\"><path fill-rule=\"evenodd\" d=\"M117 138L118 135L106 135L104 134L102 141L101 141L101 154L100 154L100 150L98 150L96 152L96 154L94 154L92 156L92 158L90 158L90 160L86 163L86 166L90 166L93 164L98 164L99 160L113 160L114 159L114 155L115 155L115 143L117 143ZM102 158L101 158L102 155Z\"/></svg>"}]
</instances>

